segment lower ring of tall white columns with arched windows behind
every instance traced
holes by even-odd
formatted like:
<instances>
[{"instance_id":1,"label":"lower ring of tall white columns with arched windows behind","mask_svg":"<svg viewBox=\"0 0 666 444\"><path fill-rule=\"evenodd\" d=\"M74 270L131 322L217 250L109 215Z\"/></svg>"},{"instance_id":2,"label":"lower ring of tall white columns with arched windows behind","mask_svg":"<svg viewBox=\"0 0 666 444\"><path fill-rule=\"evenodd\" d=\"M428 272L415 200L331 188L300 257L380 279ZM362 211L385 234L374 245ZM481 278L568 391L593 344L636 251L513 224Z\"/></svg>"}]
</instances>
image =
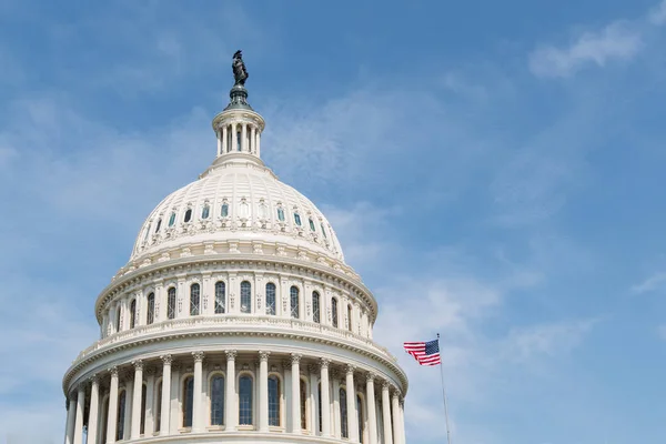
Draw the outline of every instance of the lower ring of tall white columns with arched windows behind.
<instances>
[{"instance_id":1,"label":"lower ring of tall white columns with arched windows behind","mask_svg":"<svg viewBox=\"0 0 666 444\"><path fill-rule=\"evenodd\" d=\"M215 375L224 381L223 421L213 413ZM67 406L65 444L83 444L84 426L87 444L239 431L405 444L403 398L392 382L300 354L229 350L135 360L79 384Z\"/></svg>"}]
</instances>

